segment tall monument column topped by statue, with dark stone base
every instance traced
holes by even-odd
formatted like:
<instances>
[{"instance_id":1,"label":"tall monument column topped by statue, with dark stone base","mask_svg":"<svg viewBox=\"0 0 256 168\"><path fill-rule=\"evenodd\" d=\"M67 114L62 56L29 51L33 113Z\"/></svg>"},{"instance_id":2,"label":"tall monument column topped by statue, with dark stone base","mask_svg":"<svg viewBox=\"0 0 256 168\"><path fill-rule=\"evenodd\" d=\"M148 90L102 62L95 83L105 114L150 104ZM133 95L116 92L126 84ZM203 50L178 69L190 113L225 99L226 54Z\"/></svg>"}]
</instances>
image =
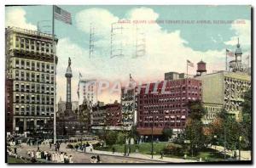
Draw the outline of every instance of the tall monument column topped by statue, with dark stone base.
<instances>
[{"instance_id":1,"label":"tall monument column topped by statue, with dark stone base","mask_svg":"<svg viewBox=\"0 0 256 168\"><path fill-rule=\"evenodd\" d=\"M57 136L61 138L68 138L74 136L81 136L83 133L83 124L79 120L78 114L72 110L71 101L71 78L73 77L71 70L71 59L68 59L67 72L67 101L64 113L60 113L57 117Z\"/></svg>"}]
</instances>

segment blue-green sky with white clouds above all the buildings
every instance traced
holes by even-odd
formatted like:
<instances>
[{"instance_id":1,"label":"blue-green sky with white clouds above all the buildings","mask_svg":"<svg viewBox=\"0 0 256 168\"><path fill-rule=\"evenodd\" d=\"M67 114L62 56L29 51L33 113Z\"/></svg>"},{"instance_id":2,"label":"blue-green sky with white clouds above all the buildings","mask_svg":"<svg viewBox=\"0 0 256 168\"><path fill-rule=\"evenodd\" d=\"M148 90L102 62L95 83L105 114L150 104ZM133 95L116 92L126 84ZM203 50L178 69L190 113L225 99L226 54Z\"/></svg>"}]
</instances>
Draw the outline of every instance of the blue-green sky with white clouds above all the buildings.
<instances>
[{"instance_id":1,"label":"blue-green sky with white clouds above all the buildings","mask_svg":"<svg viewBox=\"0 0 256 168\"><path fill-rule=\"evenodd\" d=\"M83 6L60 5L71 13L73 25L55 20L57 99L66 99L68 57L72 59L72 99L77 95L79 73L84 79L121 81L161 81L164 73L186 73L186 60L207 63L207 73L225 69L226 48L235 52L237 38L246 64L251 54L250 6ZM46 21L45 21L46 20ZM51 33L52 6L6 7L5 25ZM111 58L111 25L129 20L122 36L115 32L113 48L122 44L123 57ZM157 20L157 21L156 21ZM177 22L177 20L179 22ZM135 22L137 24L133 24ZM176 21L176 22L175 22ZM94 53L89 58L90 26L94 27ZM139 31L136 31L139 30ZM136 33L139 32L139 33ZM135 57L136 39L144 39L145 54ZM137 40L139 41L139 40ZM231 60L233 58L229 58ZM104 93L99 100L113 103L119 95Z\"/></svg>"}]
</instances>

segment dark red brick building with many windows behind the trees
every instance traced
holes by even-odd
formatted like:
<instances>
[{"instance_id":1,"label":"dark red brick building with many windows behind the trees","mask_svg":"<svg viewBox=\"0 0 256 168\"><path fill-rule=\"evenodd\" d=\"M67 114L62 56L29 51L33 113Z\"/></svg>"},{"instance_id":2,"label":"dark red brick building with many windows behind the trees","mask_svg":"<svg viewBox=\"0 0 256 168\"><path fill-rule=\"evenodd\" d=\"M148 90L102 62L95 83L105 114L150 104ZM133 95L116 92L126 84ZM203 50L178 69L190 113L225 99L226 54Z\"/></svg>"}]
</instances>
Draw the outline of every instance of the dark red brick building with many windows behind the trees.
<instances>
[{"instance_id":1,"label":"dark red brick building with many windows behind the trees","mask_svg":"<svg viewBox=\"0 0 256 168\"><path fill-rule=\"evenodd\" d=\"M143 136L151 135L152 125L154 135L162 134L164 128L180 132L189 115L187 104L201 100L201 81L194 78L148 83L137 89L137 131Z\"/></svg>"}]
</instances>

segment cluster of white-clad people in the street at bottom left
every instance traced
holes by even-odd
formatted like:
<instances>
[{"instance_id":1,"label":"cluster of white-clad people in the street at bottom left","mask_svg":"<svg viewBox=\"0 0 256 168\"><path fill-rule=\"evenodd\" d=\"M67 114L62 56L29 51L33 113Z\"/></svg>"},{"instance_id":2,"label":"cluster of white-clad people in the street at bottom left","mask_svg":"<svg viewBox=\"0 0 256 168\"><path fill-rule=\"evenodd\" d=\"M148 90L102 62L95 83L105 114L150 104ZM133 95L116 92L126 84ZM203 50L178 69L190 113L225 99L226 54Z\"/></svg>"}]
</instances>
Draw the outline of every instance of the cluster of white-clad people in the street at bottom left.
<instances>
[{"instance_id":1,"label":"cluster of white-clad people in the street at bottom left","mask_svg":"<svg viewBox=\"0 0 256 168\"><path fill-rule=\"evenodd\" d=\"M32 162L35 162L37 159L48 160L56 163L74 163L73 156L68 155L64 152L54 152L49 153L48 151L40 151L37 152L28 151L27 155L31 158Z\"/></svg>"}]
</instances>

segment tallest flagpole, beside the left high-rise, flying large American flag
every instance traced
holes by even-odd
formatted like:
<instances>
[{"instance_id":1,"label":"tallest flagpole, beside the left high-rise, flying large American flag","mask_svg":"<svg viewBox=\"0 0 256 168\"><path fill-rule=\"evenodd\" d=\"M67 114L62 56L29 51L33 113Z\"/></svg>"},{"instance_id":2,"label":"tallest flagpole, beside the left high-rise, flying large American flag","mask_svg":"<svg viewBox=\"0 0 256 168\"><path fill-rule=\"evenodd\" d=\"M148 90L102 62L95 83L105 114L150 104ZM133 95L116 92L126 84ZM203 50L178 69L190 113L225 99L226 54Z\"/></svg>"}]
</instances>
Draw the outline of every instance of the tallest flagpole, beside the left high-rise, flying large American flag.
<instances>
[{"instance_id":1,"label":"tallest flagpole, beside the left high-rise, flying large American flag","mask_svg":"<svg viewBox=\"0 0 256 168\"><path fill-rule=\"evenodd\" d=\"M55 75L56 75L56 67L55 67L55 6L52 5L52 44L53 44L53 56L54 56L54 88L56 88L55 84ZM56 144L56 90L54 89L54 144Z\"/></svg>"}]
</instances>

